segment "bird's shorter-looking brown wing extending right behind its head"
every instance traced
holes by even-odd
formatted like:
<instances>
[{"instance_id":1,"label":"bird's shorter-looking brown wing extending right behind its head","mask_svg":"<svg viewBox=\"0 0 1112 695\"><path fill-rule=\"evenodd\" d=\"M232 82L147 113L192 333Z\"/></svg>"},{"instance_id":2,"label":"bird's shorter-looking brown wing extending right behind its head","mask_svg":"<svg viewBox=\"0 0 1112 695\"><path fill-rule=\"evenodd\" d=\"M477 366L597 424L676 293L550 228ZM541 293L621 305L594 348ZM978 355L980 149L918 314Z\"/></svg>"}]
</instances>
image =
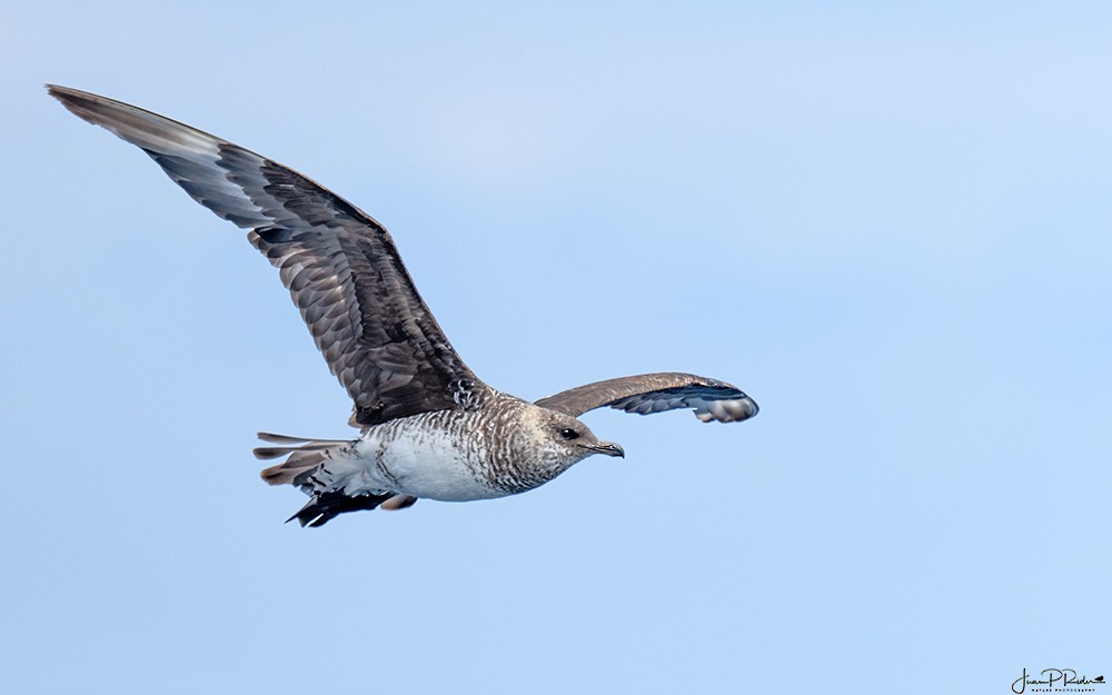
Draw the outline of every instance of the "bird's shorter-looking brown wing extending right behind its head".
<instances>
[{"instance_id":1,"label":"bird's shorter-looking brown wing extending right behind its head","mask_svg":"<svg viewBox=\"0 0 1112 695\"><path fill-rule=\"evenodd\" d=\"M704 423L739 423L759 410L756 401L732 384L674 371L595 381L542 398L536 405L573 417L603 406L641 415L693 408Z\"/></svg>"}]
</instances>

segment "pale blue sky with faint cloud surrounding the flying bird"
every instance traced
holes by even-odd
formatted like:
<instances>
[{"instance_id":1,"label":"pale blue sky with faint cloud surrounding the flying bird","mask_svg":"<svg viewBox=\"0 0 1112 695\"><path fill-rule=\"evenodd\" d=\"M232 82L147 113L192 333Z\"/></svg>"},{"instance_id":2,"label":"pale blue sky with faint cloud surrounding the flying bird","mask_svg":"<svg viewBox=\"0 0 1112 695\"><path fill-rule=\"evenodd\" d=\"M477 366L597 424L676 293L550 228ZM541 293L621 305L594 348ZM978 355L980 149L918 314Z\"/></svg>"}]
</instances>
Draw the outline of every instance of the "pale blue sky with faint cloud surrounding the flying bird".
<instances>
[{"instance_id":1,"label":"pale blue sky with faint cloud surrounding the flying bird","mask_svg":"<svg viewBox=\"0 0 1112 695\"><path fill-rule=\"evenodd\" d=\"M1112 6L39 2L0 26L0 692L1006 693L1112 671ZM272 269L58 82L384 222L527 495L281 522L347 436ZM1112 674L1108 674L1112 676Z\"/></svg>"}]
</instances>

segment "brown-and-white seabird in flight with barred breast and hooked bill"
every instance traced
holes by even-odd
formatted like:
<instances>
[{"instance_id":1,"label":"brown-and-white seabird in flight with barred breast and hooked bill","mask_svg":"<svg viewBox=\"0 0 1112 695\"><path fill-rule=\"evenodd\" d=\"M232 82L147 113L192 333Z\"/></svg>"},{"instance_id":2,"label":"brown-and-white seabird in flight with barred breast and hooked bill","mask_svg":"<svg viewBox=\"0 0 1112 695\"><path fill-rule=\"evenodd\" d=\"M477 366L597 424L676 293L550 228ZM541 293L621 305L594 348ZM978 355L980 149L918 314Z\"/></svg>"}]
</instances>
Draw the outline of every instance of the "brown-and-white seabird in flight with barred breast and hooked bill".
<instances>
[{"instance_id":1,"label":"brown-and-white seabird in flight with barred breast and hooked bill","mask_svg":"<svg viewBox=\"0 0 1112 695\"><path fill-rule=\"evenodd\" d=\"M686 373L619 377L528 401L460 359L417 292L390 234L344 198L267 157L151 111L47 85L76 116L142 149L217 216L247 230L278 269L330 371L351 397L355 438L258 433L270 485L309 499L287 519L470 502L532 490L596 454L625 457L578 419L610 407L689 408L738 423L757 404L732 384Z\"/></svg>"}]
</instances>

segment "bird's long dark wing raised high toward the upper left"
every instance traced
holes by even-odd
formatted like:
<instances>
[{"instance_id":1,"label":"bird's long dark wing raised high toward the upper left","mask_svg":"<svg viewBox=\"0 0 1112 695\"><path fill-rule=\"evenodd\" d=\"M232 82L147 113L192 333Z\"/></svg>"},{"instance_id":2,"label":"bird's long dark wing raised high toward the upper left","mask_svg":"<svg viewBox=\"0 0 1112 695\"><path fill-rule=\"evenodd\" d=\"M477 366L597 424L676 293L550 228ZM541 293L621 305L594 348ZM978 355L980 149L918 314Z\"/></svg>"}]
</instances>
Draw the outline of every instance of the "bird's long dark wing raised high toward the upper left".
<instances>
[{"instance_id":1,"label":"bird's long dark wing raised high toward the upper left","mask_svg":"<svg viewBox=\"0 0 1112 695\"><path fill-rule=\"evenodd\" d=\"M425 306L389 232L319 183L143 109L48 86L67 109L141 148L279 269L328 367L367 426L480 400L487 387Z\"/></svg>"}]
</instances>

